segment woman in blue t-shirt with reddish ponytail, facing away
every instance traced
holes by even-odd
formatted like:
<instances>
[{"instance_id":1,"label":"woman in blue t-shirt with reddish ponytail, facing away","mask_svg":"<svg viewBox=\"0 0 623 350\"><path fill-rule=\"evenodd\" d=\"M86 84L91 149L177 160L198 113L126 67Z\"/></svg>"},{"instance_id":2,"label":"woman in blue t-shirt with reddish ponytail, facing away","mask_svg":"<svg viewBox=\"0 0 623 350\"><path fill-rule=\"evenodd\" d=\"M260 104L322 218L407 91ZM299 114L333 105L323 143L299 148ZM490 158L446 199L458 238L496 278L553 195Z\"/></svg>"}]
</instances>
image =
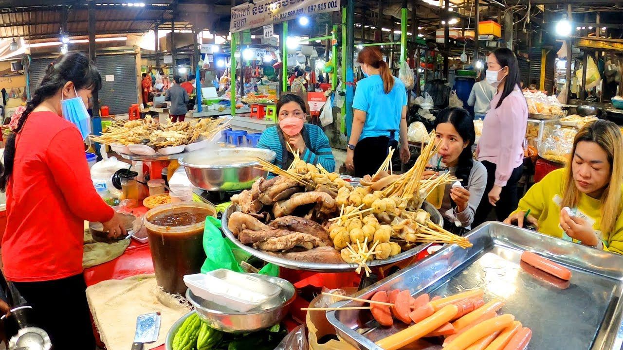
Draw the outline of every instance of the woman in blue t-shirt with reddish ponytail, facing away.
<instances>
[{"instance_id":1,"label":"woman in blue t-shirt with reddish ponytail, facing away","mask_svg":"<svg viewBox=\"0 0 623 350\"><path fill-rule=\"evenodd\" d=\"M366 78L359 80L353 100L353 128L346 168L355 176L374 174L388 155L389 147L398 148L407 163L407 93L404 83L391 75L379 49L365 47L358 62ZM399 138L400 136L400 138Z\"/></svg>"}]
</instances>

